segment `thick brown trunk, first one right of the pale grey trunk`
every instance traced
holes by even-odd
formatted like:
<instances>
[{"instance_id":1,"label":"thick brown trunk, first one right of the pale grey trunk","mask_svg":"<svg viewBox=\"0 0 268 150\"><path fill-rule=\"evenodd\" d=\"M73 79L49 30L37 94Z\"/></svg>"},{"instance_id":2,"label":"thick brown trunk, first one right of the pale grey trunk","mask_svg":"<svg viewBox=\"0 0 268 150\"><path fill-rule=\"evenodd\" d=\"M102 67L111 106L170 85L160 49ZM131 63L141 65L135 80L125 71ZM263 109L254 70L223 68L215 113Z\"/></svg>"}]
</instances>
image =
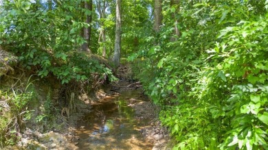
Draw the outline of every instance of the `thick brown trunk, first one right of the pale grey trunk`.
<instances>
[{"instance_id":1,"label":"thick brown trunk, first one right of the pale grey trunk","mask_svg":"<svg viewBox=\"0 0 268 150\"><path fill-rule=\"evenodd\" d=\"M163 16L162 16L162 0L155 0L155 10L154 10L154 16L155 16L155 22L154 22L154 29L155 29L155 32L159 32L160 30L160 26L162 24L162 19L163 19Z\"/></svg>"}]
</instances>

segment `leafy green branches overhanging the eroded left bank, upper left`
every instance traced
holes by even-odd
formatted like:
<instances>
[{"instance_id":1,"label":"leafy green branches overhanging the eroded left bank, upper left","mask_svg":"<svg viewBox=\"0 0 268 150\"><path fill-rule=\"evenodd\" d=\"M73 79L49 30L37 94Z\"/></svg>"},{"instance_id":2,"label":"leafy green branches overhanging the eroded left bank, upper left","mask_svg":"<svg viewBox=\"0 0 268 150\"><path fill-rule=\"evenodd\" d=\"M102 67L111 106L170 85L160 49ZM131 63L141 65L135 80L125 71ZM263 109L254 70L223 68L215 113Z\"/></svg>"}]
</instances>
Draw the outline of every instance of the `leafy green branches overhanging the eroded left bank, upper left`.
<instances>
[{"instance_id":1,"label":"leafy green branches overhanging the eroded left bank, upper left","mask_svg":"<svg viewBox=\"0 0 268 150\"><path fill-rule=\"evenodd\" d=\"M40 77L55 75L62 84L91 79L92 73L113 81L109 68L77 52L84 42L80 30L89 27L76 18L76 13L83 11L80 2L56 4L54 9L46 10L40 1L3 1L3 47L16 53L23 67L36 71ZM67 10L70 12L66 14Z\"/></svg>"}]
</instances>

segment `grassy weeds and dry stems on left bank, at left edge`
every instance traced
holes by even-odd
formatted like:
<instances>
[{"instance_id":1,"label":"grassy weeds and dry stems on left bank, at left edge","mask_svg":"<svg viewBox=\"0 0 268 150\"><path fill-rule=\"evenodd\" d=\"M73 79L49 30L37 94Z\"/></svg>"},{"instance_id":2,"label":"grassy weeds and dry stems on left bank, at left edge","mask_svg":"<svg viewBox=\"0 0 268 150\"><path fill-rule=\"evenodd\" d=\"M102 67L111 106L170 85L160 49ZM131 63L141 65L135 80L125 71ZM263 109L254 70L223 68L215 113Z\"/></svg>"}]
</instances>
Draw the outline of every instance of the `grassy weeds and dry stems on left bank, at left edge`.
<instances>
[{"instance_id":1,"label":"grassy weeds and dry stems on left bank, at left edge","mask_svg":"<svg viewBox=\"0 0 268 150\"><path fill-rule=\"evenodd\" d=\"M34 110L27 105L36 98L34 87L28 79L25 88L11 88L0 92L4 105L0 105L0 146L15 145L25 121L30 120ZM21 85L22 86L22 85ZM3 107L3 108L2 108Z\"/></svg>"}]
</instances>

